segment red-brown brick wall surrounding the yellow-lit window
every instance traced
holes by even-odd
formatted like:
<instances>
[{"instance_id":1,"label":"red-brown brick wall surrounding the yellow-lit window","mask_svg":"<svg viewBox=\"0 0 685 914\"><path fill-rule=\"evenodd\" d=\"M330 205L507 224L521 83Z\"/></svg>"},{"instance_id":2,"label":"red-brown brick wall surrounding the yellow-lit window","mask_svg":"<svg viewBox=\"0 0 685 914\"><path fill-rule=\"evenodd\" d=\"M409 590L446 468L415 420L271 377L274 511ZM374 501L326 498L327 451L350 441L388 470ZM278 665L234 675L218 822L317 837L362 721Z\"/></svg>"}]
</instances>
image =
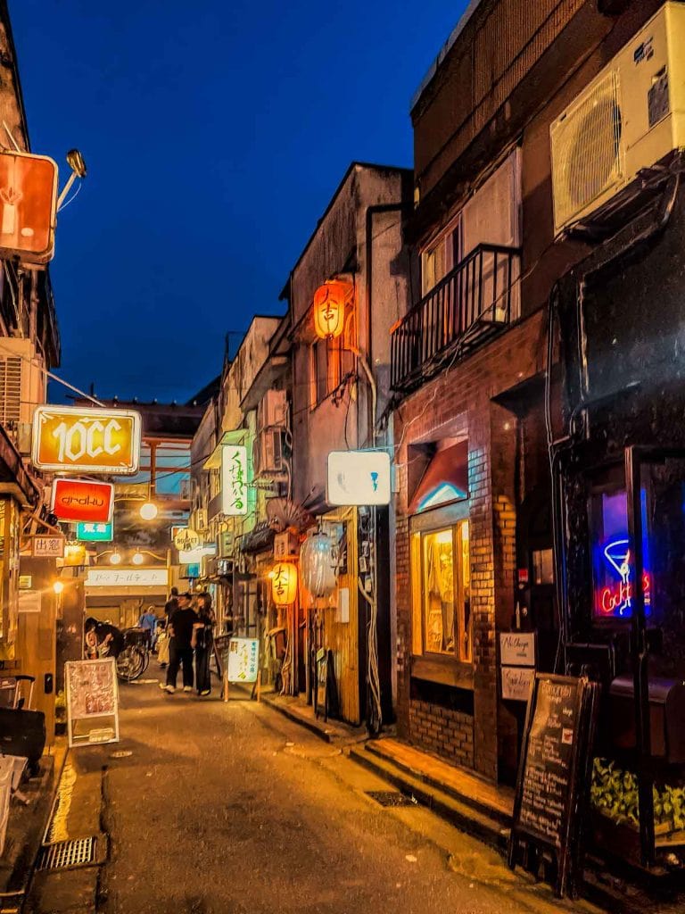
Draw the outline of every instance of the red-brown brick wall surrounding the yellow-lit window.
<instances>
[{"instance_id":1,"label":"red-brown brick wall surrounding the yellow-lit window","mask_svg":"<svg viewBox=\"0 0 685 914\"><path fill-rule=\"evenodd\" d=\"M404 739L497 779L498 731L511 721L499 707L496 634L513 612L517 420L493 402L497 394L543 371L545 322L541 312L517 324L464 362L449 368L404 400L395 411L397 472L395 595L397 611L397 727ZM469 547L473 620L473 717L443 708L414 707L411 569L407 505L409 446L467 434L469 438ZM447 686L446 686L447 688ZM469 718L469 722L464 717ZM448 721L472 742L448 747L437 721ZM469 746L469 751L459 749Z\"/></svg>"}]
</instances>

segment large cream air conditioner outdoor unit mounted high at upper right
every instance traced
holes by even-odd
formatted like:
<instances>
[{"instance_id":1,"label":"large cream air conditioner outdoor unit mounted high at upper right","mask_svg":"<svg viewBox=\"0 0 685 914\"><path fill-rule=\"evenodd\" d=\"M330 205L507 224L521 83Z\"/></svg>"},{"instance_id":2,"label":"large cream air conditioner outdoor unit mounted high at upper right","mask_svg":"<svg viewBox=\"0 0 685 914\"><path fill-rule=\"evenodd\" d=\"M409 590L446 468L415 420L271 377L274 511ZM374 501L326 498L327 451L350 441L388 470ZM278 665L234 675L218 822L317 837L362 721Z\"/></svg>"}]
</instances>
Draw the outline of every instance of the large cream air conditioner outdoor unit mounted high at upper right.
<instances>
[{"instance_id":1,"label":"large cream air conditioner outdoor unit mounted high at upper right","mask_svg":"<svg viewBox=\"0 0 685 914\"><path fill-rule=\"evenodd\" d=\"M554 233L685 146L685 4L664 4L553 122Z\"/></svg>"}]
</instances>

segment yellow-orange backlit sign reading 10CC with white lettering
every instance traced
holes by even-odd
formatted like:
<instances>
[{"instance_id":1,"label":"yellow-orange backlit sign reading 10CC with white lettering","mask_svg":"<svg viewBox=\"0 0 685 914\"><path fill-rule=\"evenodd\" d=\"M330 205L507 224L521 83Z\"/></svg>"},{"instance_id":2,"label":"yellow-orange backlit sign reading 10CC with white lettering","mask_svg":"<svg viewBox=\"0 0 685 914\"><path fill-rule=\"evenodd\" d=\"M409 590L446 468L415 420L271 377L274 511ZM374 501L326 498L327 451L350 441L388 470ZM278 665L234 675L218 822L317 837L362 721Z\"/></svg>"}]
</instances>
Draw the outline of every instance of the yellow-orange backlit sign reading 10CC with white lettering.
<instances>
[{"instance_id":1,"label":"yellow-orange backlit sign reading 10CC with white lettering","mask_svg":"<svg viewBox=\"0 0 685 914\"><path fill-rule=\"evenodd\" d=\"M34 414L32 460L38 470L125 475L138 471L140 452L140 413L39 406Z\"/></svg>"}]
</instances>

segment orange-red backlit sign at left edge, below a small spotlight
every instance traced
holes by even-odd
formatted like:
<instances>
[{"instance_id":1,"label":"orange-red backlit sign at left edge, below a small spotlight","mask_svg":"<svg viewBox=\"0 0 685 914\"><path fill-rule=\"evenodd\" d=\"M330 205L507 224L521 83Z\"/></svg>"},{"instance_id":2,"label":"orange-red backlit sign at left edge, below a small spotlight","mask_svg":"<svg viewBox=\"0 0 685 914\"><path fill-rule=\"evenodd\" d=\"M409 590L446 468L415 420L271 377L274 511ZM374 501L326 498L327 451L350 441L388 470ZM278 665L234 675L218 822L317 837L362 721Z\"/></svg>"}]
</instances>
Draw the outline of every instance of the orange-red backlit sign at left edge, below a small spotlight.
<instances>
[{"instance_id":1,"label":"orange-red backlit sign at left edge, below a small spotlight","mask_svg":"<svg viewBox=\"0 0 685 914\"><path fill-rule=\"evenodd\" d=\"M0 153L0 257L52 260L57 190L58 166L47 155Z\"/></svg>"}]
</instances>

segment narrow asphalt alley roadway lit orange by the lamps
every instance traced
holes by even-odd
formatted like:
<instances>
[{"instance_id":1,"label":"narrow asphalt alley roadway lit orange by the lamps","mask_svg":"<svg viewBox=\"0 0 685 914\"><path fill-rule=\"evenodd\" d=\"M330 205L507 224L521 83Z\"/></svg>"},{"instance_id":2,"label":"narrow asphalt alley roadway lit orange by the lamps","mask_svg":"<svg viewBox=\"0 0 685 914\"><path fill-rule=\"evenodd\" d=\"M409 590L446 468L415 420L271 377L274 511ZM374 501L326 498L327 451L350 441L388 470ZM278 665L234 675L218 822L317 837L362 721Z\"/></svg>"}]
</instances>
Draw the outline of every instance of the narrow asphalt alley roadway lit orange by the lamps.
<instances>
[{"instance_id":1,"label":"narrow asphalt alley roadway lit orange by the lamps","mask_svg":"<svg viewBox=\"0 0 685 914\"><path fill-rule=\"evenodd\" d=\"M65 834L100 823L110 851L100 872L38 873L33 914L558 909L426 809L379 806L365 792L388 784L239 690L225 704L123 687L121 743L69 759Z\"/></svg>"}]
</instances>

